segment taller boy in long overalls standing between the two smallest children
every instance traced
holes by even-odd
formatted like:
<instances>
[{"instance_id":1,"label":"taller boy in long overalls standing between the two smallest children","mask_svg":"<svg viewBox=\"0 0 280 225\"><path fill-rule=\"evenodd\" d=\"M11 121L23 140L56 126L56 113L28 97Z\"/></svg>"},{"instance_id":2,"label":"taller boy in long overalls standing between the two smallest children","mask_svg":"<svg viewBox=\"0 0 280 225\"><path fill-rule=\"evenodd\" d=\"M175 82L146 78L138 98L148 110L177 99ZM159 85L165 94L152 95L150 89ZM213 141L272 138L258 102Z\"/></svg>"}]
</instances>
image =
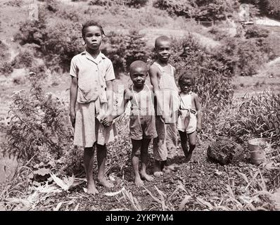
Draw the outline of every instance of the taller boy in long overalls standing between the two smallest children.
<instances>
[{"instance_id":1,"label":"taller boy in long overalls standing between the two smallest children","mask_svg":"<svg viewBox=\"0 0 280 225\"><path fill-rule=\"evenodd\" d=\"M171 40L166 36L155 39L157 60L151 65L149 74L155 90L157 116L155 120L158 137L153 140L155 158L154 175L163 175L164 165L172 169L170 160L177 151L178 88L175 83L175 68L168 63L171 55Z\"/></svg>"}]
</instances>

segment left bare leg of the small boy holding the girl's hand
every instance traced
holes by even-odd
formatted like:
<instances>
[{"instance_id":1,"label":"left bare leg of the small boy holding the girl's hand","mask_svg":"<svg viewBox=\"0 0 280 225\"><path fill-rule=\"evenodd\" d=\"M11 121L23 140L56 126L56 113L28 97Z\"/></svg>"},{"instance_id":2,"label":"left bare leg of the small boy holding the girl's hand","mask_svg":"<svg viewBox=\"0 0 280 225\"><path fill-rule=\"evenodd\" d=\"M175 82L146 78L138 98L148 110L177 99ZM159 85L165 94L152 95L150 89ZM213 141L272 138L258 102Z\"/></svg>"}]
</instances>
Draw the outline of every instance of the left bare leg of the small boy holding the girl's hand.
<instances>
[{"instance_id":1,"label":"left bare leg of the small boy holding the girl's hand","mask_svg":"<svg viewBox=\"0 0 280 225\"><path fill-rule=\"evenodd\" d=\"M132 139L132 167L134 171L134 184L136 186L143 186L144 182L141 180L139 174L139 156L141 154L141 143L142 140Z\"/></svg>"}]
</instances>

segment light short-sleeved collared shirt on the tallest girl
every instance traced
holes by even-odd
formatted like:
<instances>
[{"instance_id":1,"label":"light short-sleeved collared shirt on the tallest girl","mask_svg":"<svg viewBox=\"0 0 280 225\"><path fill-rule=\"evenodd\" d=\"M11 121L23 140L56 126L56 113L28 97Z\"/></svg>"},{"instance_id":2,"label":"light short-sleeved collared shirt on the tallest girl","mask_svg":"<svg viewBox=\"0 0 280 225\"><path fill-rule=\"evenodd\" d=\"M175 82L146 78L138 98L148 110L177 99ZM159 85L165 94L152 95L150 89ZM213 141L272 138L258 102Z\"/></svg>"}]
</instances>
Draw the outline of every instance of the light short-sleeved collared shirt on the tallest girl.
<instances>
[{"instance_id":1,"label":"light short-sleeved collared shirt on the tallest girl","mask_svg":"<svg viewBox=\"0 0 280 225\"><path fill-rule=\"evenodd\" d=\"M107 102L106 81L115 79L113 64L109 58L99 53L93 58L87 51L71 60L70 75L77 77L77 102L89 103L99 97L101 103Z\"/></svg>"}]
</instances>

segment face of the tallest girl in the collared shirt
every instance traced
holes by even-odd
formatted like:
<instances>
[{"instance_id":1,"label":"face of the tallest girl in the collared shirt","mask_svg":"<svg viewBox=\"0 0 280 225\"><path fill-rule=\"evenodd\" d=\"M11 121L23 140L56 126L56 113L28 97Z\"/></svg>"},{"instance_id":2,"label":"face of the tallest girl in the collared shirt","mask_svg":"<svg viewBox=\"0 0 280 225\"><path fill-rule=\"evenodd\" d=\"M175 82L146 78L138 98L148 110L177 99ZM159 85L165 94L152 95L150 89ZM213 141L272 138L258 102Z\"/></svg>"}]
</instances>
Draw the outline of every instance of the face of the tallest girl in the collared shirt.
<instances>
[{"instance_id":1,"label":"face of the tallest girl in the collared shirt","mask_svg":"<svg viewBox=\"0 0 280 225\"><path fill-rule=\"evenodd\" d=\"M96 50L99 49L102 41L102 33L99 27L90 26L84 30L84 42L87 48Z\"/></svg>"}]
</instances>

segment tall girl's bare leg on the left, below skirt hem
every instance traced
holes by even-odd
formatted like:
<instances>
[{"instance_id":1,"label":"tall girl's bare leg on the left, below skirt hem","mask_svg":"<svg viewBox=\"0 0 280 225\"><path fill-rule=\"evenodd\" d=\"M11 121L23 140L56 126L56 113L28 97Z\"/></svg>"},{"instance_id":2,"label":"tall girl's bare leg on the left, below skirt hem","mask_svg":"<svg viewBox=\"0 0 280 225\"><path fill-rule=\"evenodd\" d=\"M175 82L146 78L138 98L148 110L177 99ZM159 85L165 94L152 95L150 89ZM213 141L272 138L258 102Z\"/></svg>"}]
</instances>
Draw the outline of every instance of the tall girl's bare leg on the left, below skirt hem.
<instances>
[{"instance_id":1,"label":"tall girl's bare leg on the left, below skirt hem","mask_svg":"<svg viewBox=\"0 0 280 225\"><path fill-rule=\"evenodd\" d=\"M94 147L84 148L84 170L87 176L87 193L98 194L94 184Z\"/></svg>"}]
</instances>

